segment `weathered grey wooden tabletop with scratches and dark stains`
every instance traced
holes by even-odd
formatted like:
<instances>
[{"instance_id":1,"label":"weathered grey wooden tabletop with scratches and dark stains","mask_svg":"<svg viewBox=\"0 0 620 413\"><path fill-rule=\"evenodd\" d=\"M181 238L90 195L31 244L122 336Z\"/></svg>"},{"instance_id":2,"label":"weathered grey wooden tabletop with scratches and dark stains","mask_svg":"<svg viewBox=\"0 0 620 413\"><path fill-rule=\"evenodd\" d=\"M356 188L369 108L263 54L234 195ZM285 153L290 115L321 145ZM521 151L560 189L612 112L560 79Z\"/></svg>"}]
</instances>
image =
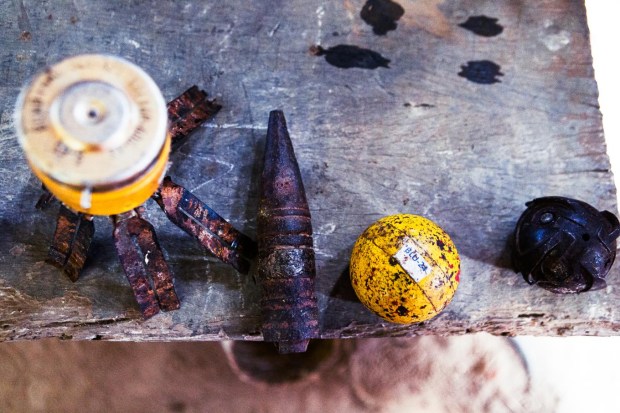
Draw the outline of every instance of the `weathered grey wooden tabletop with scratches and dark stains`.
<instances>
[{"instance_id":1,"label":"weathered grey wooden tabletop with scratches and dark stains","mask_svg":"<svg viewBox=\"0 0 620 413\"><path fill-rule=\"evenodd\" d=\"M323 337L620 330L618 263L606 290L558 296L515 274L507 247L538 196L616 211L582 2L174 3L0 6L0 340L261 338L252 277L206 255L154 203L180 310L142 321L105 219L78 282L44 263L55 211L34 208L40 183L14 102L46 65L86 52L142 66L167 99L192 84L217 97L223 109L169 173L251 236L268 113L284 110L313 214ZM373 30L363 8L395 24L384 16ZM463 24L472 16L487 18ZM420 325L382 322L348 284L356 237L397 212L435 220L462 257L454 301Z\"/></svg>"}]
</instances>

